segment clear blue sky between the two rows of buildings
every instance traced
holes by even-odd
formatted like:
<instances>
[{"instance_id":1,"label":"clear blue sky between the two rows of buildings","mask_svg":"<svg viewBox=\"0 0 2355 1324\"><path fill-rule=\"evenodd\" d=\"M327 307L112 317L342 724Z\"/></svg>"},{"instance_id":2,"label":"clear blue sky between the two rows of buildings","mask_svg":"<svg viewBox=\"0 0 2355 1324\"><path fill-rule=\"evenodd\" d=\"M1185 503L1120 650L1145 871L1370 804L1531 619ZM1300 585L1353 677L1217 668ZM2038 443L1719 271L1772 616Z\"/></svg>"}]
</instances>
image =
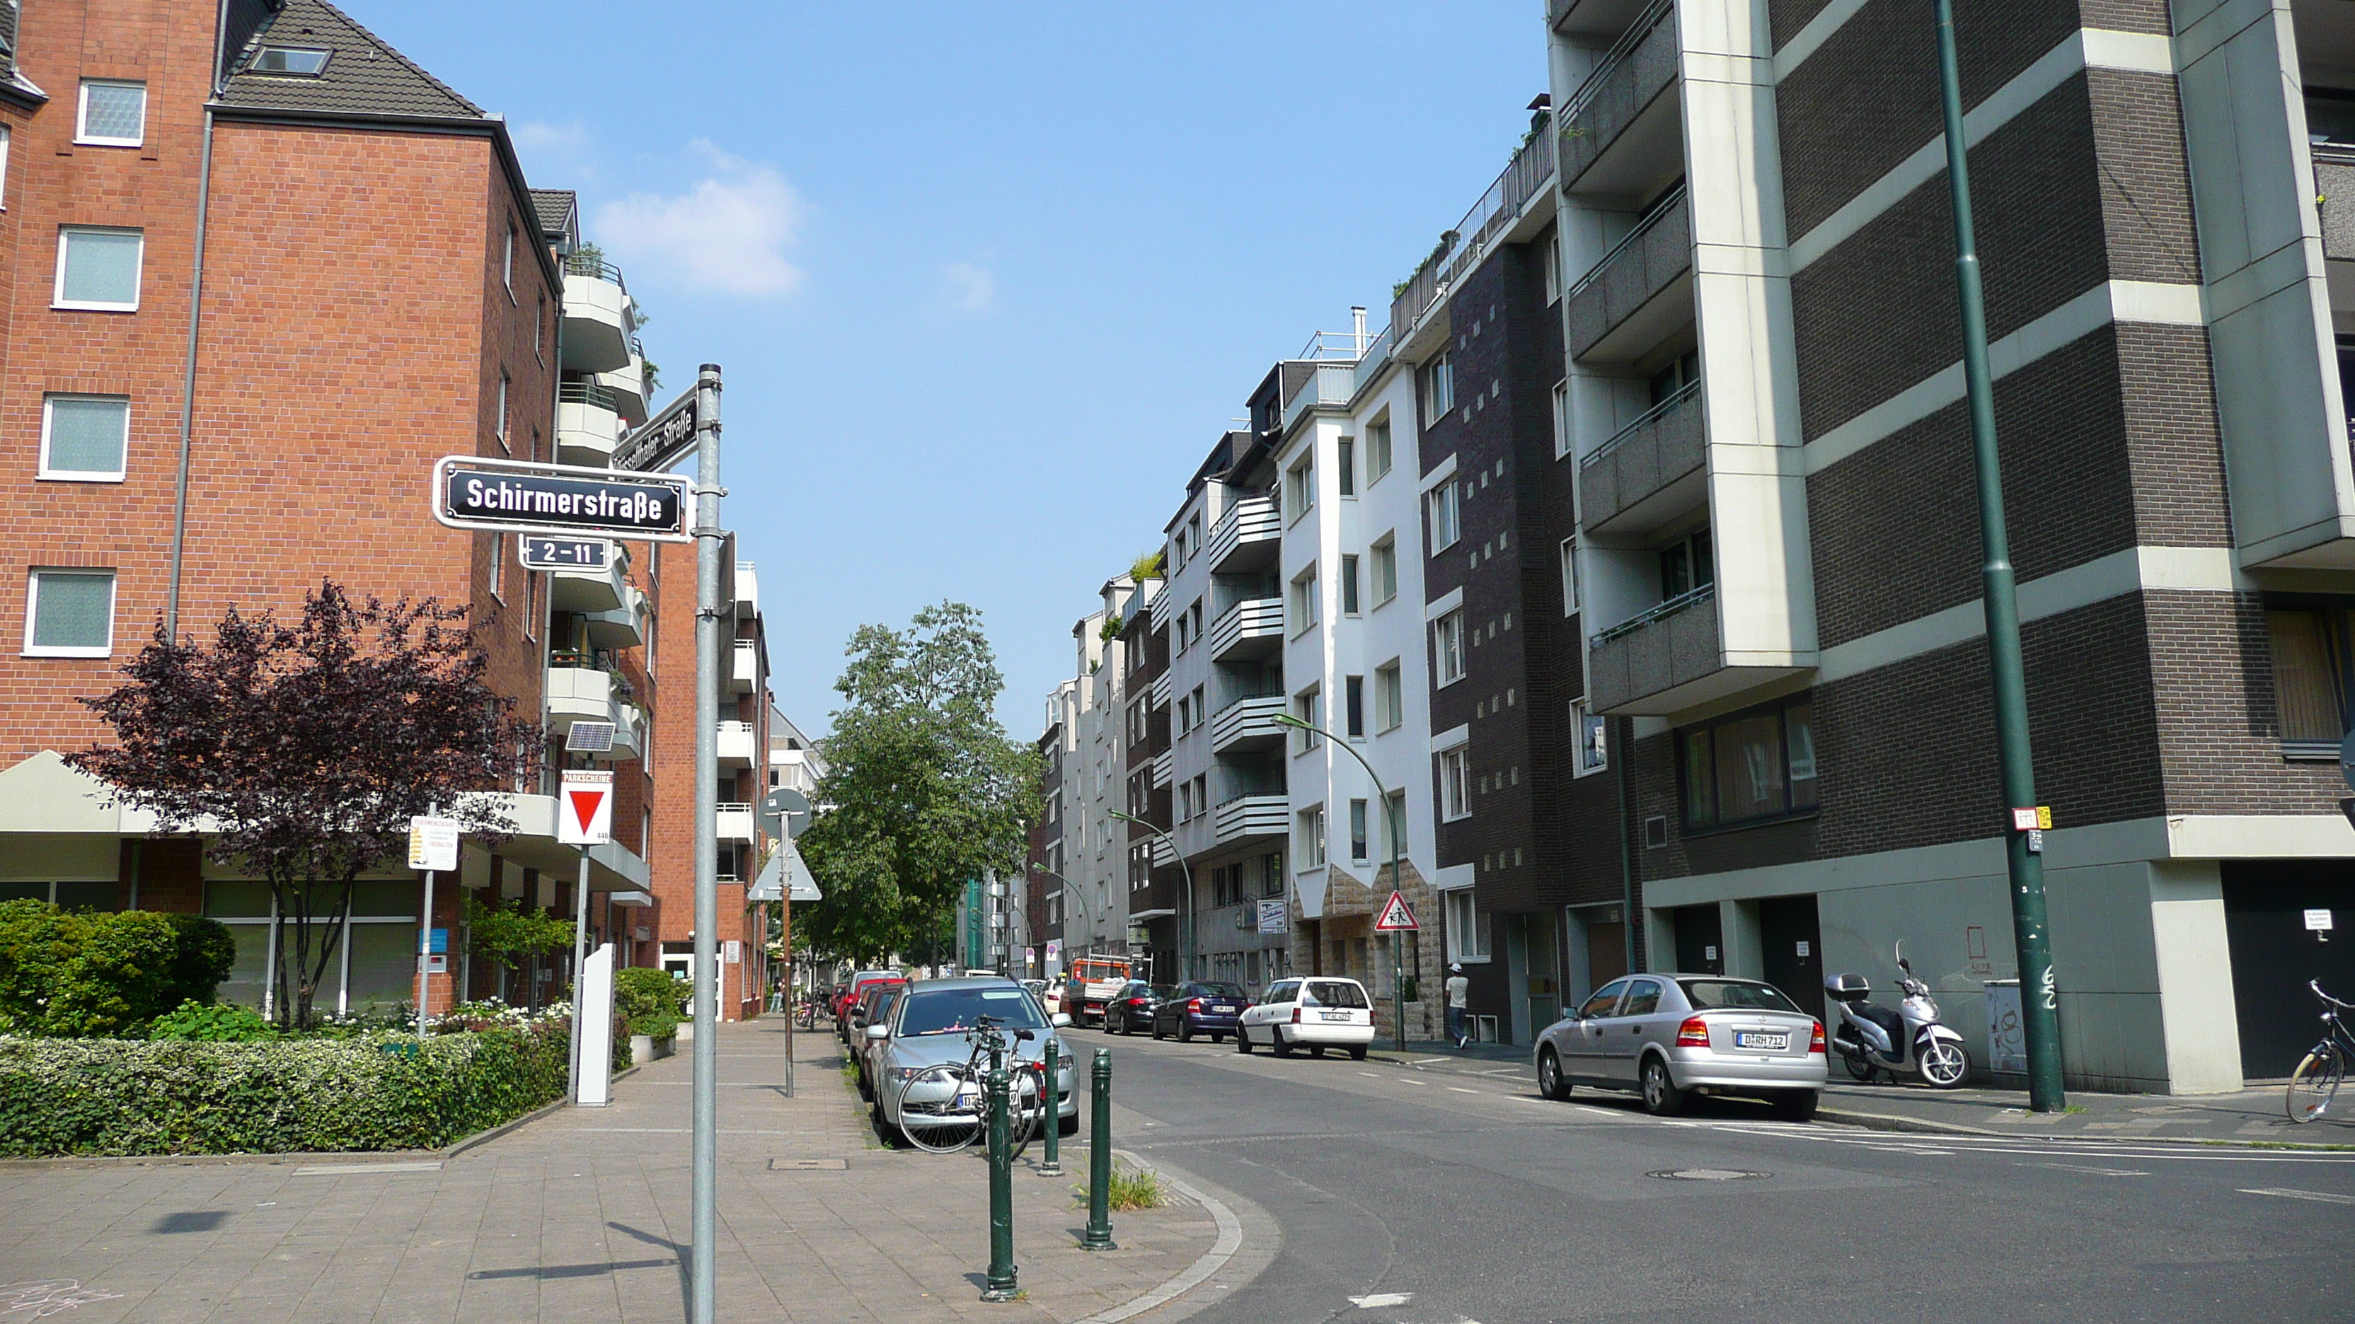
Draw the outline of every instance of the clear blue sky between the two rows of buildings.
<instances>
[{"instance_id":1,"label":"clear blue sky between the two rows of buildings","mask_svg":"<svg viewBox=\"0 0 2355 1324\"><path fill-rule=\"evenodd\" d=\"M1540 0L346 7L579 188L664 398L723 365L812 733L857 624L958 598L1034 737L1267 365L1378 330L1545 90Z\"/></svg>"}]
</instances>

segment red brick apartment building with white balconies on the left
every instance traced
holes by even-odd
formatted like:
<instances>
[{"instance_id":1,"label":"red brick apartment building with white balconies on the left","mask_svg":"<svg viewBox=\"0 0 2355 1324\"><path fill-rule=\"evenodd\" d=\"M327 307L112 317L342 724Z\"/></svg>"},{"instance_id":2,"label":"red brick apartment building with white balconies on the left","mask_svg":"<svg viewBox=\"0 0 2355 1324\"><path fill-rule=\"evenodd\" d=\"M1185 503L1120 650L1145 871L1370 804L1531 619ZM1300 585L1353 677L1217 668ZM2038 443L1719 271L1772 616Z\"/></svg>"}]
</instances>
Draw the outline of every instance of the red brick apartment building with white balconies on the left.
<instances>
[{"instance_id":1,"label":"red brick apartment building with white balconies on the left","mask_svg":"<svg viewBox=\"0 0 2355 1324\"><path fill-rule=\"evenodd\" d=\"M528 572L513 537L447 530L424 502L443 455L598 464L645 419L629 294L584 252L570 193L528 188L499 118L320 0L35 0L0 26L0 565L21 584L0 594L19 641L0 655L0 895L214 914L240 940L224 994L261 1001L268 888L104 806L57 754L101 737L75 697L113 688L158 620L210 636L228 605L285 613L332 577L469 605L495 688L549 721L520 832L466 850L433 928L464 947L462 895L570 914L579 855L553 841L551 792L586 719L617 726L619 787L591 924L685 938L688 907L659 898L692 865L664 848L692 754L657 761L648 737L692 733L695 686L648 646L692 617L692 558L664 549L669 591L650 544ZM756 615L737 631L758 641ZM664 634L692 650L685 624ZM410 997L419 900L414 874L363 883L332 1006ZM560 978L455 959L431 997L537 999Z\"/></svg>"}]
</instances>

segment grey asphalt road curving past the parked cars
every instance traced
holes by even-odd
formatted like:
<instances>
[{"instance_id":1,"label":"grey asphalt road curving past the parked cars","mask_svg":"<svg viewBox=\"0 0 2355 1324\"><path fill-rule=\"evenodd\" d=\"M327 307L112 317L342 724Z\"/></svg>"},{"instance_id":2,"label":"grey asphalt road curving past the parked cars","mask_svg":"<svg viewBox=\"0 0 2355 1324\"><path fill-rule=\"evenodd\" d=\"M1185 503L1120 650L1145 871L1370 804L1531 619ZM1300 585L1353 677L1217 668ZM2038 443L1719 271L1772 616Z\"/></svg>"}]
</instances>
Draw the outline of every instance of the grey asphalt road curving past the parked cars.
<instances>
[{"instance_id":1,"label":"grey asphalt road curving past the parked cars","mask_svg":"<svg viewBox=\"0 0 2355 1324\"><path fill-rule=\"evenodd\" d=\"M1203 1324L2355 1319L2355 1152L1653 1119L1498 1062L1072 1039L1114 1046L1123 1150L1281 1225Z\"/></svg>"}]
</instances>

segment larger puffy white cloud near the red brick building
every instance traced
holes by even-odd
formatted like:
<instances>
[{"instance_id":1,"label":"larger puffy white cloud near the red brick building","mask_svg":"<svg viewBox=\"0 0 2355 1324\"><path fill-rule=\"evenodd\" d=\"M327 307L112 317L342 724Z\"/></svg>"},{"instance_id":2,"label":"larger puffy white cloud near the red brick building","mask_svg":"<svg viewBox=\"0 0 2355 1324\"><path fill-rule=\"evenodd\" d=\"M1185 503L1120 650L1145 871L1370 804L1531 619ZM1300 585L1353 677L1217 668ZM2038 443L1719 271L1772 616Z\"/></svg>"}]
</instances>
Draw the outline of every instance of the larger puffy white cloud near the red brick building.
<instances>
[{"instance_id":1,"label":"larger puffy white cloud near the red brick building","mask_svg":"<svg viewBox=\"0 0 2355 1324\"><path fill-rule=\"evenodd\" d=\"M801 269L784 259L803 203L775 165L756 165L695 139L711 165L695 188L631 193L596 210L593 236L624 266L652 264L683 285L721 294L784 294Z\"/></svg>"}]
</instances>

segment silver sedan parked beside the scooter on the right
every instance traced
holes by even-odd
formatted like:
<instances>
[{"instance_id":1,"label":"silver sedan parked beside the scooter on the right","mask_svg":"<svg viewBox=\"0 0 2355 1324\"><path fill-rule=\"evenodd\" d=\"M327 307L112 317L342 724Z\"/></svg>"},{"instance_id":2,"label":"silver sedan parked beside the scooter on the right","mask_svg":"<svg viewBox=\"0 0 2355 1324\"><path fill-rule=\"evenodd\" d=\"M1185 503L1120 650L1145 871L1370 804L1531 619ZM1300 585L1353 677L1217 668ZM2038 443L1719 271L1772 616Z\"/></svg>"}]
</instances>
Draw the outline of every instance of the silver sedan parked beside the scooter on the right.
<instances>
[{"instance_id":1,"label":"silver sedan parked beside the scooter on the right","mask_svg":"<svg viewBox=\"0 0 2355 1324\"><path fill-rule=\"evenodd\" d=\"M1816 1117L1827 1062L1823 1022L1783 989L1663 973L1594 989L1538 1034L1533 1058L1545 1098L1573 1084L1639 1091L1656 1117L1681 1112L1686 1093L1764 1098L1790 1121Z\"/></svg>"}]
</instances>

